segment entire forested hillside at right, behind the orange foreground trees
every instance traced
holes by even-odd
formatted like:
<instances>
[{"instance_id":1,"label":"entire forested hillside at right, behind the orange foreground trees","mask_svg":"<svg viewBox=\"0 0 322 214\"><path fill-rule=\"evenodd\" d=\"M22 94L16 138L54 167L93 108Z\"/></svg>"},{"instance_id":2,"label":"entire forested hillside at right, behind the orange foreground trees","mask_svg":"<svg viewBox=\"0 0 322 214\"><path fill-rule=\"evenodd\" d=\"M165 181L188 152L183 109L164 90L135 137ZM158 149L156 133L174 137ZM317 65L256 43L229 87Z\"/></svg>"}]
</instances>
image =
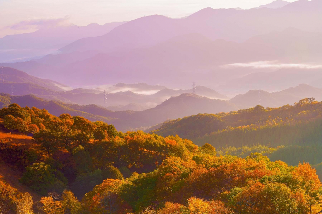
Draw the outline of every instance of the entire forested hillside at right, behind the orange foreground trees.
<instances>
[{"instance_id":1,"label":"entire forested hillside at right, behind the orange foreground trees","mask_svg":"<svg viewBox=\"0 0 322 214\"><path fill-rule=\"evenodd\" d=\"M289 165L303 160L313 165L322 162L322 102L314 98L279 108L257 105L229 113L193 115L167 121L152 132L189 138L198 146L209 143L221 155L246 157L259 152Z\"/></svg>"}]
</instances>

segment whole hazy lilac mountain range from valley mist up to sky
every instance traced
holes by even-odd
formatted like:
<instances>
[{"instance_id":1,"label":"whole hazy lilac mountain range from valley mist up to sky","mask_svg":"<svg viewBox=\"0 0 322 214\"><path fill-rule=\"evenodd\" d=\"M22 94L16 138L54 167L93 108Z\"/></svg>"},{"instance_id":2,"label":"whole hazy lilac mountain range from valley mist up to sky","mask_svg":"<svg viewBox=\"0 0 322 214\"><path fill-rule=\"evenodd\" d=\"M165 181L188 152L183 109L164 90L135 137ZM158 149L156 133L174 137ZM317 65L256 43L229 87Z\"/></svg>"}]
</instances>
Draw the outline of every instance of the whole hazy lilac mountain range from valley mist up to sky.
<instances>
[{"instance_id":1,"label":"whole hazy lilac mountain range from valley mist up to sky","mask_svg":"<svg viewBox=\"0 0 322 214\"><path fill-rule=\"evenodd\" d=\"M73 87L148 82L182 88L198 82L216 89L278 67L321 67L321 1L268 7L205 8L182 19L146 16L72 42L61 54L3 66ZM250 67L254 62L273 65Z\"/></svg>"}]
</instances>

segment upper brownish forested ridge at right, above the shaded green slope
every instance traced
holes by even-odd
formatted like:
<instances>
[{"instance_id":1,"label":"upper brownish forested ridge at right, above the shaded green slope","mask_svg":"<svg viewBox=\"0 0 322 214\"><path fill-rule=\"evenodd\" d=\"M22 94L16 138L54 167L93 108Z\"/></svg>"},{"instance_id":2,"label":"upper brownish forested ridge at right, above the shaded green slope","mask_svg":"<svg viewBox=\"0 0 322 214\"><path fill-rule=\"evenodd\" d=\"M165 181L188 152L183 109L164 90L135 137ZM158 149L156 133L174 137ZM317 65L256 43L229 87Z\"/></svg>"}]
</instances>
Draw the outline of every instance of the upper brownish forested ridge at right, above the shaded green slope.
<instances>
[{"instance_id":1,"label":"upper brownish forested ridge at right, above the shaded green slope","mask_svg":"<svg viewBox=\"0 0 322 214\"><path fill-rule=\"evenodd\" d=\"M316 102L314 98L306 98L295 105L284 105L279 108L264 108L257 105L254 108L227 113L192 115L167 121L153 132L161 136L179 135L182 138L195 140L225 130L258 130L295 125L318 120L320 114L322 114L322 102Z\"/></svg>"}]
</instances>

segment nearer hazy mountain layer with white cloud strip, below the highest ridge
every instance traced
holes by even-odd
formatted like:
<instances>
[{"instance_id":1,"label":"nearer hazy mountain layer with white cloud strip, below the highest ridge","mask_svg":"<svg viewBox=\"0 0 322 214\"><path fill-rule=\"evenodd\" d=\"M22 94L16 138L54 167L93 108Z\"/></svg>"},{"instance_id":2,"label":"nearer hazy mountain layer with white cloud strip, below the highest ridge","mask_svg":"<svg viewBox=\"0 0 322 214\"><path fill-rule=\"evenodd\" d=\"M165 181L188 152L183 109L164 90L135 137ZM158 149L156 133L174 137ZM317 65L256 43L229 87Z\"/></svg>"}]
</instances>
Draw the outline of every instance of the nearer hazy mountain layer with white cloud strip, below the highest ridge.
<instances>
[{"instance_id":1,"label":"nearer hazy mountain layer with white cloud strip, below the highest ridge","mask_svg":"<svg viewBox=\"0 0 322 214\"><path fill-rule=\"evenodd\" d=\"M294 67L294 70L305 69L308 66L318 68L322 60L320 53L322 41L319 39L321 36L322 34L318 32L287 28L255 36L243 43L236 43L225 40L212 41L201 34L187 34L151 48L118 54L101 53L59 68L52 66L53 64L45 65L35 61L5 64L5 66L22 69L34 76L63 81L67 85L75 82L78 85L149 82L153 85L185 87L186 83L195 81L201 85L227 84L227 87L223 88L239 89L244 88L242 85L244 81L239 79L246 79L247 76L243 76L250 73L288 67ZM44 70L46 72L43 72ZM89 70L92 72L88 72ZM312 76L305 78L310 77ZM261 84L262 88L248 87L246 91L251 89L270 91L271 89L266 86L279 80L281 79L265 82L265 79ZM287 81L292 79L288 78ZM275 90L310 82L297 82ZM250 84L256 83L253 81Z\"/></svg>"}]
</instances>

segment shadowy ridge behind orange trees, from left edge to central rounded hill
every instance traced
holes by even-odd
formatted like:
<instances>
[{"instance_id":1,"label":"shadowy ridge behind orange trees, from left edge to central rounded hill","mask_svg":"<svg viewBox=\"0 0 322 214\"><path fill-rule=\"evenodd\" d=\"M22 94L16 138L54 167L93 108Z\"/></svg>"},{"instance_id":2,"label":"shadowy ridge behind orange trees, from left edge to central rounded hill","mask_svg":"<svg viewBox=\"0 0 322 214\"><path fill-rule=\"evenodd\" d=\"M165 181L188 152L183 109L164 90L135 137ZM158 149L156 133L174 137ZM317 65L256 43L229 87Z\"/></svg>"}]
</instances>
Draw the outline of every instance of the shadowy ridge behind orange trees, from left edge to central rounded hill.
<instances>
[{"instance_id":1,"label":"shadowy ridge behind orange trees, from left edge to central rounded hill","mask_svg":"<svg viewBox=\"0 0 322 214\"><path fill-rule=\"evenodd\" d=\"M94 104L86 106L66 104L60 101L44 100L34 95L10 96L2 93L0 101L3 106L17 103L20 106L45 108L56 116L69 113L72 116L78 115L92 121L102 120L114 124L121 131L149 128L168 119L190 116L199 112L217 113L237 110L237 107L228 101L209 99L196 94L171 97L155 108L145 111L110 111Z\"/></svg>"}]
</instances>

